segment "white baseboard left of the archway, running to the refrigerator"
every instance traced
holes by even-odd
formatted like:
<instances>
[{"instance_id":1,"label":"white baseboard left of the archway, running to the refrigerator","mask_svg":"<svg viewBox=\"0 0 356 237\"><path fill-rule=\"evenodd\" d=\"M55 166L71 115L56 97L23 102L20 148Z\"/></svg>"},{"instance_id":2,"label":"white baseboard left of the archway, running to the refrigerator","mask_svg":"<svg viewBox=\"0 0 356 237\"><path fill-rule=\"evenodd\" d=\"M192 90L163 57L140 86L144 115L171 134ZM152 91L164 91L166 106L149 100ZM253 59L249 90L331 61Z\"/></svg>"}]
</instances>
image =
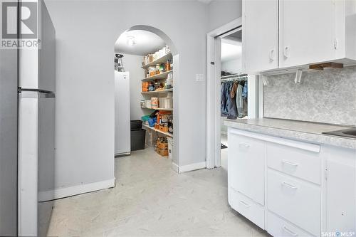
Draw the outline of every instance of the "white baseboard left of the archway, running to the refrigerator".
<instances>
[{"instance_id":1,"label":"white baseboard left of the archway, running to the refrigerator","mask_svg":"<svg viewBox=\"0 0 356 237\"><path fill-rule=\"evenodd\" d=\"M100 189L108 189L115 186L115 178L104 181L98 181L90 184L81 184L77 186L68 186L64 188L52 189L48 191L40 191L38 193L38 201L51 201L55 199L63 199L68 196L89 193L90 191L98 191Z\"/></svg>"}]
</instances>

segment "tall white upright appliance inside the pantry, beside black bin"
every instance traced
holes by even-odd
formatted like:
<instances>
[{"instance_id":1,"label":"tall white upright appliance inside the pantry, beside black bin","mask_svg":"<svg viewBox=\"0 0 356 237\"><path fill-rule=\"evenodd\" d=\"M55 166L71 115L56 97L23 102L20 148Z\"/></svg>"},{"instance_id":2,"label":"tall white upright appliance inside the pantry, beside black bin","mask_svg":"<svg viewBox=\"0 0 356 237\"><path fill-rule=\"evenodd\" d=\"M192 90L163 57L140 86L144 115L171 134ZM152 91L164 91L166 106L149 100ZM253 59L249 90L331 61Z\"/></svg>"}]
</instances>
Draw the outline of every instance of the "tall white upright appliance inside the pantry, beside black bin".
<instances>
[{"instance_id":1,"label":"tall white upright appliance inside the pantry, beside black bin","mask_svg":"<svg viewBox=\"0 0 356 237\"><path fill-rule=\"evenodd\" d=\"M115 70L115 156L130 154L130 73Z\"/></svg>"}]
</instances>

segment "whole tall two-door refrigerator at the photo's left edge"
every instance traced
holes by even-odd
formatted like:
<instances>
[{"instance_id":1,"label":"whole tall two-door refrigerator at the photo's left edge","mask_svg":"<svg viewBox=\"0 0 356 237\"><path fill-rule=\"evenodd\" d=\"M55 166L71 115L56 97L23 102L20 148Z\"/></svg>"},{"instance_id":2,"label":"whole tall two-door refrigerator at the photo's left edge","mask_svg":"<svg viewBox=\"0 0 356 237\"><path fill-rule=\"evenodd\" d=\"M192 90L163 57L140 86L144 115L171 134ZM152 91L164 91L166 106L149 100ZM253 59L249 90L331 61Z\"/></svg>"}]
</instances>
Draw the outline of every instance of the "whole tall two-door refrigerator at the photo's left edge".
<instances>
[{"instance_id":1,"label":"whole tall two-door refrigerator at the photo's left edge","mask_svg":"<svg viewBox=\"0 0 356 237\"><path fill-rule=\"evenodd\" d=\"M11 4L21 28L28 1ZM56 31L43 0L31 4L41 48L0 49L0 236L46 236L53 208Z\"/></svg>"}]
</instances>

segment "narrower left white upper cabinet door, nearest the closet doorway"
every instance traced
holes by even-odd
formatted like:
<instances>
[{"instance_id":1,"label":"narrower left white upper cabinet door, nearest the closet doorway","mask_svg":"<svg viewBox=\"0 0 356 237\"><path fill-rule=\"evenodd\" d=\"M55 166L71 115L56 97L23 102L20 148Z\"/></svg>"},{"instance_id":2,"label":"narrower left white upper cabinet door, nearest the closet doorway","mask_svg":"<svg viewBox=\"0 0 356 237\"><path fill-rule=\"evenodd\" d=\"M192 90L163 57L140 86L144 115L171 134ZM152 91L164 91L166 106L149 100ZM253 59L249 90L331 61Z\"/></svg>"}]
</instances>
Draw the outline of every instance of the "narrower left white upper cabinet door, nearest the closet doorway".
<instances>
[{"instance_id":1,"label":"narrower left white upper cabinet door, nearest the closet doorway","mask_svg":"<svg viewBox=\"0 0 356 237\"><path fill-rule=\"evenodd\" d=\"M278 68L278 1L243 1L242 53L245 73Z\"/></svg>"}]
</instances>

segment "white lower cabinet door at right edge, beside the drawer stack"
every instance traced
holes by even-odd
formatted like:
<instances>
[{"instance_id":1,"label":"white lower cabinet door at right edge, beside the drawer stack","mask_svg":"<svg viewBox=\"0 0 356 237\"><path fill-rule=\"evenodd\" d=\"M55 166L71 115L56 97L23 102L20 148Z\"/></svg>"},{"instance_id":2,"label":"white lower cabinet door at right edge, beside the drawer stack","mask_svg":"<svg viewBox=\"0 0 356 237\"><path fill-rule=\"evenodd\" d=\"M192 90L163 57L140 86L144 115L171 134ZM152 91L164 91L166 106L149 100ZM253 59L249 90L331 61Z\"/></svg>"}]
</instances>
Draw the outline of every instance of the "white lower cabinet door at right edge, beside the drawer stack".
<instances>
[{"instance_id":1,"label":"white lower cabinet door at right edge, beside the drawer stack","mask_svg":"<svg viewBox=\"0 0 356 237\"><path fill-rule=\"evenodd\" d=\"M326 194L329 232L356 232L356 150L332 149Z\"/></svg>"}]
</instances>

